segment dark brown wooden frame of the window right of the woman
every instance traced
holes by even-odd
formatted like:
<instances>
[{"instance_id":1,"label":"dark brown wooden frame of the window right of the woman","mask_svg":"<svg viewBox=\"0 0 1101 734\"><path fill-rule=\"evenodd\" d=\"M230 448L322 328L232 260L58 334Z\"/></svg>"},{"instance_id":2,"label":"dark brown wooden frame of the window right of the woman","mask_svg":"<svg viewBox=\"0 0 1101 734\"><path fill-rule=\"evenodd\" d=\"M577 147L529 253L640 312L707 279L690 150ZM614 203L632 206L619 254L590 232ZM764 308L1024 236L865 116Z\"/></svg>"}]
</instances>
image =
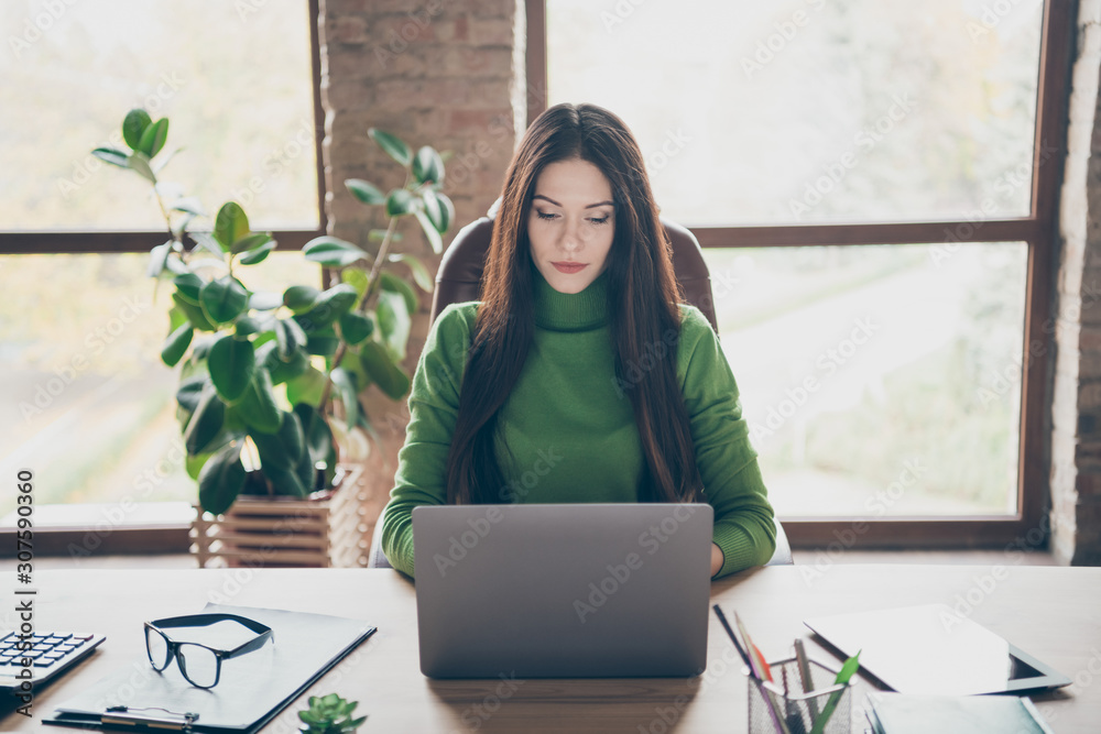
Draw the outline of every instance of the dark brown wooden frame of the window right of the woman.
<instances>
[{"instance_id":1,"label":"dark brown wooden frame of the window right of the woman","mask_svg":"<svg viewBox=\"0 0 1101 734\"><path fill-rule=\"evenodd\" d=\"M546 0L525 0L527 14L527 121L547 107ZM945 231L967 231L961 242L1025 242L1028 273L1021 432L1017 456L1017 512L1013 515L959 517L810 517L781 518L793 546L844 550L860 548L1036 548L1049 535L1049 406L1054 374L1054 283L1058 255L1058 198L1066 155L1066 118L1075 41L1076 2L1045 0L1040 31L1036 121L1029 213L982 220L982 228L961 220L873 221L830 224L693 227L704 248L783 248L800 245L928 244L944 242ZM1042 160L1043 150L1055 155ZM960 228L960 229L958 229ZM979 237L975 237L979 235ZM1045 329L1045 325L1048 326ZM1032 346L1032 352L1029 351ZM1036 359L1026 358L1036 353ZM1043 539L1035 543L1036 529Z\"/></svg>"}]
</instances>

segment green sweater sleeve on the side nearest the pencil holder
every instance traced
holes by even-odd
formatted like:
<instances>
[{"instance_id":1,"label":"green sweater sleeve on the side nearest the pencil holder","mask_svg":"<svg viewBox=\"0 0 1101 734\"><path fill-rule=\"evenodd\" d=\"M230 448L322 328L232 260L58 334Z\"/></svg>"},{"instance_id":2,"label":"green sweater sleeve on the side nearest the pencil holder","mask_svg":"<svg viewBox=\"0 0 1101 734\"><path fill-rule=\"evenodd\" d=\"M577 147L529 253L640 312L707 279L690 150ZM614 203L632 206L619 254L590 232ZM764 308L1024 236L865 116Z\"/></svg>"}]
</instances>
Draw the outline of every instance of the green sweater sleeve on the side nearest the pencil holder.
<instances>
[{"instance_id":1,"label":"green sweater sleeve on the side nearest the pencil holder","mask_svg":"<svg viewBox=\"0 0 1101 734\"><path fill-rule=\"evenodd\" d=\"M704 491L715 508L713 540L723 556L719 578L768 562L776 526L730 364L704 315L683 308L685 407Z\"/></svg>"}]
</instances>

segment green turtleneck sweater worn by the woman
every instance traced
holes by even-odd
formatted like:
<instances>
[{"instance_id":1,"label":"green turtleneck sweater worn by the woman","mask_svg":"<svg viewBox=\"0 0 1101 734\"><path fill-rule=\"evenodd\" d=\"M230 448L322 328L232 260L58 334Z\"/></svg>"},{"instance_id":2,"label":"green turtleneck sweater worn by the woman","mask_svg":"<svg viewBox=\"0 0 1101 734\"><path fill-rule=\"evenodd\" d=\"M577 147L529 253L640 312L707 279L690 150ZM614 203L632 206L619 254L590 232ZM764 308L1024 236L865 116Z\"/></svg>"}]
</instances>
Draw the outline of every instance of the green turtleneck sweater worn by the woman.
<instances>
[{"instance_id":1,"label":"green turtleneck sweater worn by the woman","mask_svg":"<svg viewBox=\"0 0 1101 734\"><path fill-rule=\"evenodd\" d=\"M615 380L607 275L578 294L558 293L537 271L533 280L532 350L498 420L505 445L498 447L500 501L639 502L645 460L630 396ZM475 302L444 309L413 379L405 446L382 518L382 549L410 576L413 508L447 501L447 452L477 309ZM713 540L724 559L718 576L726 576L772 557L773 511L719 340L695 307L682 306L680 317L677 376L715 508Z\"/></svg>"}]
</instances>

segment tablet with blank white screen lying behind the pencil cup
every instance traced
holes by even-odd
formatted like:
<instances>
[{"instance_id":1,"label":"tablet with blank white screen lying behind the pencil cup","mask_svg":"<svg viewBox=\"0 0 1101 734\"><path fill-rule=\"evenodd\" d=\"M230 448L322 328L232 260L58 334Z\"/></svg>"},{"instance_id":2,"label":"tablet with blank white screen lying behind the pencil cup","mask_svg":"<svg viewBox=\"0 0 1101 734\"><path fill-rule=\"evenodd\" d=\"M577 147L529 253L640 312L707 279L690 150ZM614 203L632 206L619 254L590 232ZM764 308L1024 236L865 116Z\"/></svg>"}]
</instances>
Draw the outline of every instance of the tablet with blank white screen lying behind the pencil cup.
<instances>
[{"instance_id":1,"label":"tablet with blank white screen lying behind the pencil cup","mask_svg":"<svg viewBox=\"0 0 1101 734\"><path fill-rule=\"evenodd\" d=\"M1070 679L947 604L805 620L900 693L974 695L1068 686Z\"/></svg>"}]
</instances>

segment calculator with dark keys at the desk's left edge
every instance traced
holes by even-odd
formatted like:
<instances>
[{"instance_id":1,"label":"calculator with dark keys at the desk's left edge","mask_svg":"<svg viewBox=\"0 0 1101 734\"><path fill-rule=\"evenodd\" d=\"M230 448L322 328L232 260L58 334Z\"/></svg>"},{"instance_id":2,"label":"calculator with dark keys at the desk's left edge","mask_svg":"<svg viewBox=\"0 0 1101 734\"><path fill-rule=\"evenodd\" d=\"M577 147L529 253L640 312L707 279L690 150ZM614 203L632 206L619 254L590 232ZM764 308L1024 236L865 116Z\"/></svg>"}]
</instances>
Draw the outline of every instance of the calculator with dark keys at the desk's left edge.
<instances>
[{"instance_id":1,"label":"calculator with dark keys at the desk's left edge","mask_svg":"<svg viewBox=\"0 0 1101 734\"><path fill-rule=\"evenodd\" d=\"M30 640L18 633L0 631L0 690L17 689L25 680L42 686L91 655L107 639L103 635L83 632L34 633ZM24 649L30 642L30 649ZM31 661L31 678L20 678ZM25 673L24 673L25 675Z\"/></svg>"}]
</instances>

